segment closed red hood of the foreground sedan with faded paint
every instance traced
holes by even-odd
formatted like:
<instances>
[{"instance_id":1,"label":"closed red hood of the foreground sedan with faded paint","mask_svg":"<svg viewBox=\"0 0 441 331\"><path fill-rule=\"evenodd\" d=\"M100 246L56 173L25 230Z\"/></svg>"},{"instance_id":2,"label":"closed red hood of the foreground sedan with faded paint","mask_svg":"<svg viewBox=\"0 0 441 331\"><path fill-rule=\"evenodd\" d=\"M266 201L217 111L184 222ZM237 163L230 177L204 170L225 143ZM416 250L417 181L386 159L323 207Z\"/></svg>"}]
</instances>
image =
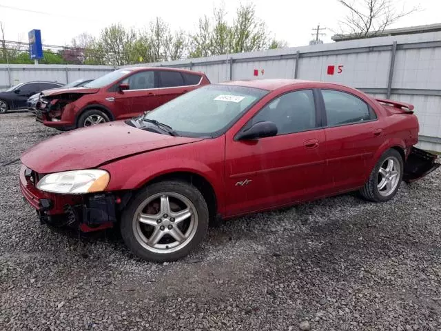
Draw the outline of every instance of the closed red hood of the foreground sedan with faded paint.
<instances>
[{"instance_id":1,"label":"closed red hood of the foreground sedan with faded paint","mask_svg":"<svg viewBox=\"0 0 441 331\"><path fill-rule=\"evenodd\" d=\"M121 157L200 140L148 132L116 121L58 134L24 152L21 162L48 174L96 168Z\"/></svg>"}]
</instances>

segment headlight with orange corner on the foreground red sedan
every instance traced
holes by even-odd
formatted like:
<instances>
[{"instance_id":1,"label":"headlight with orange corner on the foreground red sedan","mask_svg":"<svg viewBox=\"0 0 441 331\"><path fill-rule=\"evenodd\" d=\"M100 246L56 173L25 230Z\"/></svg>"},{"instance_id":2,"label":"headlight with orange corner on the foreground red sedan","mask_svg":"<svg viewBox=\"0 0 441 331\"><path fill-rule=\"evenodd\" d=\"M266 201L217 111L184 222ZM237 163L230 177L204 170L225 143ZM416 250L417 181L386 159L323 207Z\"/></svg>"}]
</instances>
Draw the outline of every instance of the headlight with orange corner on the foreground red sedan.
<instances>
[{"instance_id":1,"label":"headlight with orange corner on the foreground red sedan","mask_svg":"<svg viewBox=\"0 0 441 331\"><path fill-rule=\"evenodd\" d=\"M45 192L83 194L102 192L109 181L110 175L105 170L73 170L46 174L37 183L37 188Z\"/></svg>"}]
</instances>

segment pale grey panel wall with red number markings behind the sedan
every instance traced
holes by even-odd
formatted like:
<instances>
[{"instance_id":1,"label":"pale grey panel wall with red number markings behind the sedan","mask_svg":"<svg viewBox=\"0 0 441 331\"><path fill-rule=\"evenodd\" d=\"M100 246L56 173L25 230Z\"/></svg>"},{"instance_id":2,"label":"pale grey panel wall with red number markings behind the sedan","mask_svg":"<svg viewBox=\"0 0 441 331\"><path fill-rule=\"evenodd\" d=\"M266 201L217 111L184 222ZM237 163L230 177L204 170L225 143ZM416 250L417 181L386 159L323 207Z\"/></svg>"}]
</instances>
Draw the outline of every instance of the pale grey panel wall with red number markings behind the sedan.
<instances>
[{"instance_id":1,"label":"pale grey panel wall with red number markings behind the sedan","mask_svg":"<svg viewBox=\"0 0 441 331\"><path fill-rule=\"evenodd\" d=\"M441 32L139 66L202 71L212 83L264 78L329 81L358 88L376 97L413 103L420 121L419 146L441 152ZM328 74L329 66L334 66L334 74Z\"/></svg>"}]
</instances>

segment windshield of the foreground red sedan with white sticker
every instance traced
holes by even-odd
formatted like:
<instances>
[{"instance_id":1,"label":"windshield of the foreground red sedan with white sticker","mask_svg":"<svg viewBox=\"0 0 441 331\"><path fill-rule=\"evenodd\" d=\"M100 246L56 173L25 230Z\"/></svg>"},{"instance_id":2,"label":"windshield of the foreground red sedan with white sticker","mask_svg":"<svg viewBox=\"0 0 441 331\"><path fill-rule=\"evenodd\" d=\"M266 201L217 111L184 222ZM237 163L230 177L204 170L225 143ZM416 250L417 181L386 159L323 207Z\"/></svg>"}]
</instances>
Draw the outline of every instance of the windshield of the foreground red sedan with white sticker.
<instances>
[{"instance_id":1,"label":"windshield of the foreground red sedan with white sticker","mask_svg":"<svg viewBox=\"0 0 441 331\"><path fill-rule=\"evenodd\" d=\"M216 137L268 91L210 85L194 90L144 115L173 128L180 136Z\"/></svg>"}]
</instances>

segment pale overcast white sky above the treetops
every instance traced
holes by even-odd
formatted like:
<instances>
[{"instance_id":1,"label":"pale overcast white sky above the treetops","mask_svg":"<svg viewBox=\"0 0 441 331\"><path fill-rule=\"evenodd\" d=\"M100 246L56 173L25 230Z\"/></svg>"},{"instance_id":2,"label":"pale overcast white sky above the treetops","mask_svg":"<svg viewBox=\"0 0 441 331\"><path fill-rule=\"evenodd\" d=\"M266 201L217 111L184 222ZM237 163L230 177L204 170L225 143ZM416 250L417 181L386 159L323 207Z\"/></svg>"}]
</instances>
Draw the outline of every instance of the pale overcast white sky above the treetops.
<instances>
[{"instance_id":1,"label":"pale overcast white sky above the treetops","mask_svg":"<svg viewBox=\"0 0 441 331\"><path fill-rule=\"evenodd\" d=\"M255 4L257 16L265 21L272 36L293 47L307 45L318 24L338 30L338 21L345 16L345 10L336 0L245 0L243 3L246 1ZM441 23L441 0L393 1L398 3L398 8L418 5L420 10L403 17L391 28ZM28 31L40 29L43 43L66 45L83 32L98 36L102 28L112 23L142 29L155 17L164 19L174 30L194 31L198 18L211 15L213 8L222 3L227 17L232 19L238 0L0 0L0 21L6 40L27 42ZM322 31L326 33L322 36L325 43L332 42L334 32L331 30Z\"/></svg>"}]
</instances>

